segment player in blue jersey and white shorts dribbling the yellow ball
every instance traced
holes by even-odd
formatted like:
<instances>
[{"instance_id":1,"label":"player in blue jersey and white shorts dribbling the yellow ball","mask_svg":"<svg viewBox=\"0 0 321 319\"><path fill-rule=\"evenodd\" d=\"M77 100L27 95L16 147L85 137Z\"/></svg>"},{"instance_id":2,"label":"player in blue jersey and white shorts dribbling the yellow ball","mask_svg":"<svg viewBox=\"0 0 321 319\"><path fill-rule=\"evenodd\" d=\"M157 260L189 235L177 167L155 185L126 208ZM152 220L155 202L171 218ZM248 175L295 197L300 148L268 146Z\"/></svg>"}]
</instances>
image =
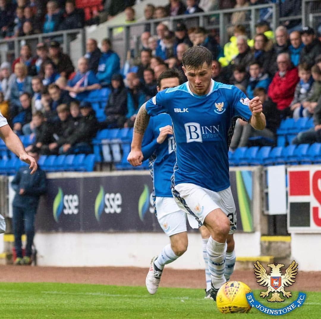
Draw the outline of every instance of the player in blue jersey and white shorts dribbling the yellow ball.
<instances>
[{"instance_id":1,"label":"player in blue jersey and white shorts dribbling the yellow ball","mask_svg":"<svg viewBox=\"0 0 321 319\"><path fill-rule=\"evenodd\" d=\"M227 252L234 251L236 230L228 160L232 119L240 117L261 130L265 128L265 116L258 97L249 100L237 87L211 79L215 67L212 58L211 52L201 46L184 53L182 68L188 81L158 92L142 105L128 161L133 166L142 164L141 143L150 116L169 114L176 140L172 194L178 206L211 233L206 251L211 296L216 300L218 289L226 282L225 258Z\"/></svg>"}]
</instances>

